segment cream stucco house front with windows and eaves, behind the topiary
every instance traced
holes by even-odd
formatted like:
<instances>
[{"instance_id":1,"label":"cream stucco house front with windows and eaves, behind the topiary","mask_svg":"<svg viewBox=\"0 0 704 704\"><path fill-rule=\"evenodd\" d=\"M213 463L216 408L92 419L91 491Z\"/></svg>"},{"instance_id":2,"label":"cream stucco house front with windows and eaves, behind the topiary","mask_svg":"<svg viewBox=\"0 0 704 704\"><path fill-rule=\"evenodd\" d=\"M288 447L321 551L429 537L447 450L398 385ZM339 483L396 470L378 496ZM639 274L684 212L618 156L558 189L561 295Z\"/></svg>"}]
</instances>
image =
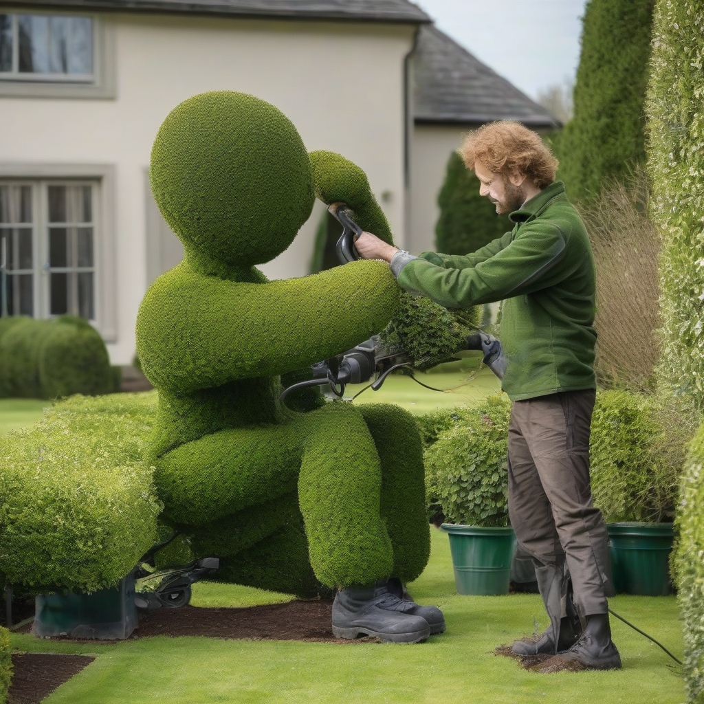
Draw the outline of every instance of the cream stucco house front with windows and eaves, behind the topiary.
<instances>
[{"instance_id":1,"label":"cream stucco house front with windows and eaves, behind the topiary","mask_svg":"<svg viewBox=\"0 0 704 704\"><path fill-rule=\"evenodd\" d=\"M422 125L414 132L413 51L428 23L406 0L4 5L0 244L9 313L83 315L113 363L130 362L142 296L182 253L149 192L151 143L171 108L208 90L270 101L308 149L356 161L399 244L427 249L438 165L458 134L456 125L442 139ZM263 266L269 277L308 273L322 215L317 204L289 250Z\"/></svg>"}]
</instances>

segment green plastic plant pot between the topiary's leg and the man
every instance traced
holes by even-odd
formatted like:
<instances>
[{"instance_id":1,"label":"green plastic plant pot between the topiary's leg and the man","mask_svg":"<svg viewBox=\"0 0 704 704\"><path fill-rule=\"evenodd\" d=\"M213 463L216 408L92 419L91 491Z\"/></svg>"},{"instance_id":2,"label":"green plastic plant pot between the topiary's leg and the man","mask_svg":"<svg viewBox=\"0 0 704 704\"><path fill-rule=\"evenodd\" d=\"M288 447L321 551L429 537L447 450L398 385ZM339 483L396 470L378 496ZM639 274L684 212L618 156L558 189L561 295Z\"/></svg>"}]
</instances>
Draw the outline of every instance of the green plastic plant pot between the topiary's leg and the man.
<instances>
[{"instance_id":1,"label":"green plastic plant pot between the topiary's leg and the man","mask_svg":"<svg viewBox=\"0 0 704 704\"><path fill-rule=\"evenodd\" d=\"M508 594L511 559L516 545L513 528L482 528L444 523L450 537L455 586L460 594Z\"/></svg>"}]
</instances>

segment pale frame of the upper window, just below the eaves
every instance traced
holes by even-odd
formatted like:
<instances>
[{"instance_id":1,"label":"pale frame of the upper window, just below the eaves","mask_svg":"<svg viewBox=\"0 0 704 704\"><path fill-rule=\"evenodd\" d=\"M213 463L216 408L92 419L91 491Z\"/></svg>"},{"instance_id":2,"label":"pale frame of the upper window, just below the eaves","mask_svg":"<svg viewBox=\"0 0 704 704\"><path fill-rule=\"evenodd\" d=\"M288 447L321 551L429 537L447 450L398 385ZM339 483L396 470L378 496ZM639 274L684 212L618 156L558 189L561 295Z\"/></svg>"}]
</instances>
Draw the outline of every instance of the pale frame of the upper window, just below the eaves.
<instances>
[{"instance_id":1,"label":"pale frame of the upper window, just below the eaves","mask_svg":"<svg viewBox=\"0 0 704 704\"><path fill-rule=\"evenodd\" d=\"M65 73L0 73L0 98L94 98L114 99L115 81L115 27L104 15L51 9L0 8L0 13L13 15L13 64L19 51L17 15L51 17L87 17L93 24L93 73L75 75Z\"/></svg>"}]
</instances>

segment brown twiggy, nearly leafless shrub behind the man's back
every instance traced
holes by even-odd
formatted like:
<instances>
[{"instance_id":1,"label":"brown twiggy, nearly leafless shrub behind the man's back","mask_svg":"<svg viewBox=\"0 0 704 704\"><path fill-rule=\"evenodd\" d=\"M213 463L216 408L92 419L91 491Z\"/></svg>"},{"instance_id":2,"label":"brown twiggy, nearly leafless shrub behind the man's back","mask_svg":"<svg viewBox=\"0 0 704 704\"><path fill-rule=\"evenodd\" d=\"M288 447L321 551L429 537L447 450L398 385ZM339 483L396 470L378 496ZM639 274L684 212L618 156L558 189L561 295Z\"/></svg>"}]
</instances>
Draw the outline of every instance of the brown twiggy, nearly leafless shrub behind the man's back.
<instances>
[{"instance_id":1,"label":"brown twiggy, nearly leafless shrub behind the man's back","mask_svg":"<svg viewBox=\"0 0 704 704\"><path fill-rule=\"evenodd\" d=\"M648 217L650 186L634 170L580 208L596 260L596 360L600 386L652 390L660 353L660 234Z\"/></svg>"}]
</instances>

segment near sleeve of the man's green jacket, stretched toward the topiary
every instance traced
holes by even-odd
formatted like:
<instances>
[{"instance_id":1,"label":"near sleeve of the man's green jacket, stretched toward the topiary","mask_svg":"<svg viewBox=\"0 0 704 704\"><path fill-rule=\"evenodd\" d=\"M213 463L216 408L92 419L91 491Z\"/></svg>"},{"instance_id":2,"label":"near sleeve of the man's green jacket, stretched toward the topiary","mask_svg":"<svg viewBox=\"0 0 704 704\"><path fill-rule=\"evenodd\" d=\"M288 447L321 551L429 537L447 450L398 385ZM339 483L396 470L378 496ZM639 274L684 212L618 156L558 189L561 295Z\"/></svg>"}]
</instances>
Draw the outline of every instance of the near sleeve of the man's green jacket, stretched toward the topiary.
<instances>
[{"instance_id":1,"label":"near sleeve of the man's green jacket, stretched toward the topiary","mask_svg":"<svg viewBox=\"0 0 704 704\"><path fill-rule=\"evenodd\" d=\"M446 268L421 258L411 260L401 269L398 284L445 308L468 308L529 294L567 275L559 266L567 250L559 227L551 223L525 227L510 244L491 255L494 249L490 248L504 238L479 250L486 257L465 268Z\"/></svg>"}]
</instances>

